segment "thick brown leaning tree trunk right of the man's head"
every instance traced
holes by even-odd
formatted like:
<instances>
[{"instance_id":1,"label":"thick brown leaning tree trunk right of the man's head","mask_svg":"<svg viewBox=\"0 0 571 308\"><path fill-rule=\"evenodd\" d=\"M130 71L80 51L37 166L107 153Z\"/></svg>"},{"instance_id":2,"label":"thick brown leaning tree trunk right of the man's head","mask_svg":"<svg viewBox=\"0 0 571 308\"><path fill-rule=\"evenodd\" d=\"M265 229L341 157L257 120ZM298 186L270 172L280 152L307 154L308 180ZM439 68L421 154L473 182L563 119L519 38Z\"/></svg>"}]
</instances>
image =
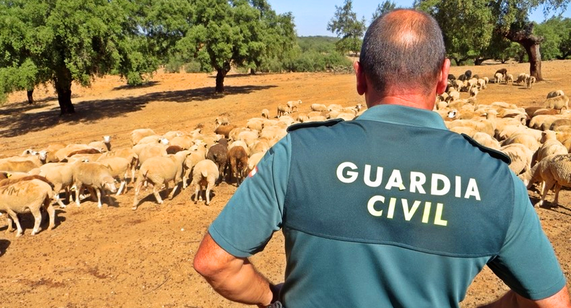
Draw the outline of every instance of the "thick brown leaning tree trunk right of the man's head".
<instances>
[{"instance_id":1,"label":"thick brown leaning tree trunk right of the man's head","mask_svg":"<svg viewBox=\"0 0 571 308\"><path fill-rule=\"evenodd\" d=\"M506 38L521 44L525 48L529 58L529 75L536 77L536 80L543 80L539 47L544 38L533 35L533 25L533 23L529 23L523 30L510 30L506 34Z\"/></svg>"}]
</instances>

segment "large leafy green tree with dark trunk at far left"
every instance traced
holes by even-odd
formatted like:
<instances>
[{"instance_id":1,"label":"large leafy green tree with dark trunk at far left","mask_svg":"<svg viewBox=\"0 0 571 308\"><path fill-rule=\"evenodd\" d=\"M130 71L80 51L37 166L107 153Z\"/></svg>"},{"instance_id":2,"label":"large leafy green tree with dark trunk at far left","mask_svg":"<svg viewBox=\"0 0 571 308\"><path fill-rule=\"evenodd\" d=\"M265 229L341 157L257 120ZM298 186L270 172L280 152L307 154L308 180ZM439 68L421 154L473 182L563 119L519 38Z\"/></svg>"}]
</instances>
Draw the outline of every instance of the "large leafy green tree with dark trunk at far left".
<instances>
[{"instance_id":1,"label":"large leafy green tree with dark trunk at far left","mask_svg":"<svg viewBox=\"0 0 571 308\"><path fill-rule=\"evenodd\" d=\"M71 82L88 86L116 70L130 83L155 67L128 0L0 2L0 69L7 92L53 83L62 113L73 113Z\"/></svg>"}]
</instances>

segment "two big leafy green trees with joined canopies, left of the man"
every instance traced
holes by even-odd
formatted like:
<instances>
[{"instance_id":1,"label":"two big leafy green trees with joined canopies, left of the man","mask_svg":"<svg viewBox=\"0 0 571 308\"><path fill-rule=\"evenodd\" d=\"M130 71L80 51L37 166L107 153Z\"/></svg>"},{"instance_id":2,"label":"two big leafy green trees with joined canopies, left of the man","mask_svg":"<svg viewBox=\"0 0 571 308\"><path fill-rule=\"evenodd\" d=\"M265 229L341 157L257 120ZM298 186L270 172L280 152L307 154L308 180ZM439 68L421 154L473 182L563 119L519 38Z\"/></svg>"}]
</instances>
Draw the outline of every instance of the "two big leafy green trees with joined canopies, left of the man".
<instances>
[{"instance_id":1,"label":"two big leafy green trees with joined canopies, left of the man","mask_svg":"<svg viewBox=\"0 0 571 308\"><path fill-rule=\"evenodd\" d=\"M222 92L232 65L263 69L295 45L291 13L266 0L0 1L0 93L51 83L74 113L74 81L118 73L138 85L174 60L215 69Z\"/></svg>"}]
</instances>

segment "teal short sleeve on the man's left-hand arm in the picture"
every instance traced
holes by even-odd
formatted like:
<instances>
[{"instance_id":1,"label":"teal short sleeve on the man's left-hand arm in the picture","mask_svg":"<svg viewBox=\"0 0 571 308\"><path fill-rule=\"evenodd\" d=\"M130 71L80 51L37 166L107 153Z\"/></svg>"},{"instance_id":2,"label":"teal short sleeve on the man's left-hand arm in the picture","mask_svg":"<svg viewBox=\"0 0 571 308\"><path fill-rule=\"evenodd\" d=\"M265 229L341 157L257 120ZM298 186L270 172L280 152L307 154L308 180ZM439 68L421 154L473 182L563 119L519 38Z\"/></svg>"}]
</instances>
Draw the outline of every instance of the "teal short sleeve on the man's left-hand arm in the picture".
<instances>
[{"instance_id":1,"label":"teal short sleeve on the man's left-hand arm in the picture","mask_svg":"<svg viewBox=\"0 0 571 308\"><path fill-rule=\"evenodd\" d=\"M208 228L212 239L236 257L266 247L282 225L291 159L291 139L282 138L264 155Z\"/></svg>"}]
</instances>

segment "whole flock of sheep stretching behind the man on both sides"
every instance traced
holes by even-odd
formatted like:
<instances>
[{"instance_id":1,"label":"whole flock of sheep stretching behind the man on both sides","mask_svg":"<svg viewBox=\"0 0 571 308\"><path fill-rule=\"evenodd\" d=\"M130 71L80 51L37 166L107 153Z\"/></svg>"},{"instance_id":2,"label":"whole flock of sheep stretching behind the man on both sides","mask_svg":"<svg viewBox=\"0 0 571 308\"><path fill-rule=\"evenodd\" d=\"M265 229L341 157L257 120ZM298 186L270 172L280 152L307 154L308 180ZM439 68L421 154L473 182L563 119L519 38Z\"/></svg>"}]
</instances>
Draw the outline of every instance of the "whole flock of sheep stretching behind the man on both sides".
<instances>
[{"instance_id":1,"label":"whole flock of sheep stretching behind the man on both sides","mask_svg":"<svg viewBox=\"0 0 571 308\"><path fill-rule=\"evenodd\" d=\"M477 104L479 91L488 87L488 77L465 72L457 79L449 76L447 92L436 98L435 112L441 114L448 129L467 134L484 146L502 151L512 159L510 169L528 184L541 183L541 201L554 188L554 205L562 186L571 186L571 113L569 98L563 91L547 95L541 107L519 108L505 102ZM500 69L494 83L522 83L531 87L534 80L525 74L517 80ZM460 92L469 97L460 98ZM26 150L19 156L0 158L0 213L5 213L8 228L17 227L22 235L18 213L31 212L35 219L33 235L39 232L42 210L54 227L54 204L77 206L87 196L102 207L102 197L125 194L132 185L132 210L139 206L143 187L152 187L156 202L163 203L161 191L172 199L179 186L194 187L194 202L204 198L208 205L211 190L222 181L239 184L254 169L271 146L287 134L288 126L298 122L343 118L350 121L363 112L363 106L311 104L300 112L302 102L279 104L276 115L263 109L260 117L246 126L231 124L227 117L215 119L214 132L171 131L157 134L152 129L132 131L131 147L111 148L111 138L89 144L54 143L40 151ZM565 112L563 111L565 109ZM170 185L172 183L172 188ZM169 191L170 190L170 191Z\"/></svg>"}]
</instances>

